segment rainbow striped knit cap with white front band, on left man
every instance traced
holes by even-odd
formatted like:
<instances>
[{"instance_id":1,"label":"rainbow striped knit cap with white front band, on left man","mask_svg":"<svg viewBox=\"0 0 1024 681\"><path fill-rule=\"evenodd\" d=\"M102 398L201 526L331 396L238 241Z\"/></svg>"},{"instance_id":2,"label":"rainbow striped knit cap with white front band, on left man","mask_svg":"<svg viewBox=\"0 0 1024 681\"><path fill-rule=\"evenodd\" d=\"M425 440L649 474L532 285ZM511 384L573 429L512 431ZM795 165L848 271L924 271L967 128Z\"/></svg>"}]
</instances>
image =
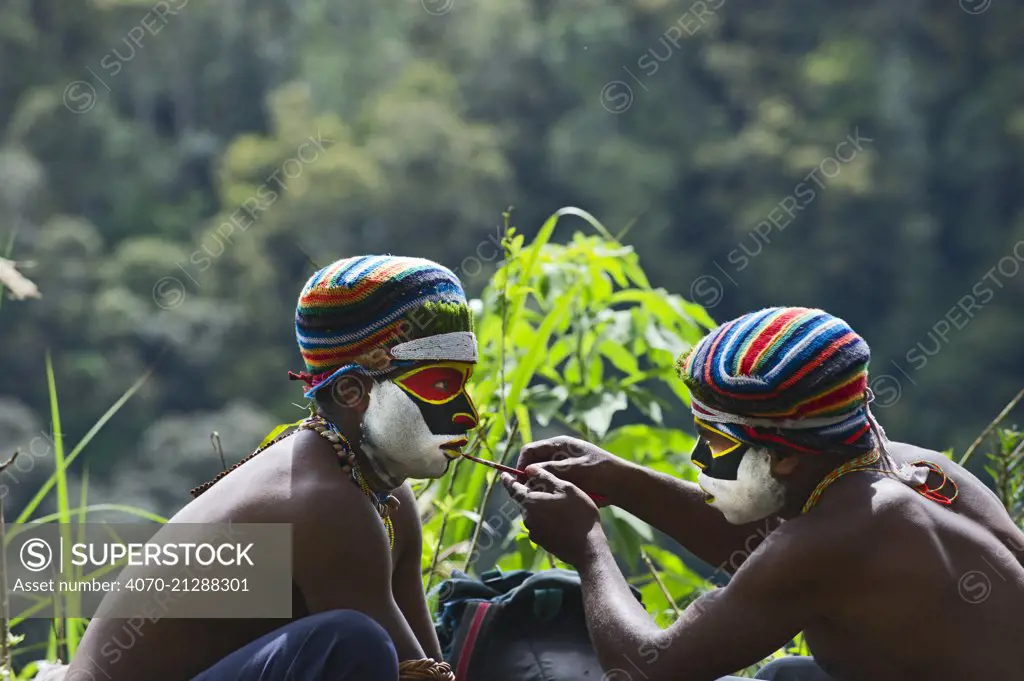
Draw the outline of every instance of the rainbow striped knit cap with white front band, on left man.
<instances>
[{"instance_id":1,"label":"rainbow striped knit cap with white front band, on left man","mask_svg":"<svg viewBox=\"0 0 1024 681\"><path fill-rule=\"evenodd\" d=\"M299 294L295 336L306 371L289 376L306 383L306 397L349 372L477 356L459 278L423 258L362 255L324 267Z\"/></svg>"}]
</instances>

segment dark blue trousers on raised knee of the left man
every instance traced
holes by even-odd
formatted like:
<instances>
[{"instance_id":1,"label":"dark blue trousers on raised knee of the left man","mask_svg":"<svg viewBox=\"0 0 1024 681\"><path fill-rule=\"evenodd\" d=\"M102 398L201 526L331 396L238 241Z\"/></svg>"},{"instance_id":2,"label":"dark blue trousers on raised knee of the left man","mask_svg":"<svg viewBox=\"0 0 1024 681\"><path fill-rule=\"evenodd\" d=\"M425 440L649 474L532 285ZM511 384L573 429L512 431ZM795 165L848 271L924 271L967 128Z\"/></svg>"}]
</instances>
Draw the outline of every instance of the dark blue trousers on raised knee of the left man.
<instances>
[{"instance_id":1,"label":"dark blue trousers on raised knee of the left man","mask_svg":"<svg viewBox=\"0 0 1024 681\"><path fill-rule=\"evenodd\" d=\"M397 681L383 627L354 610L302 618L239 648L191 681Z\"/></svg>"}]
</instances>

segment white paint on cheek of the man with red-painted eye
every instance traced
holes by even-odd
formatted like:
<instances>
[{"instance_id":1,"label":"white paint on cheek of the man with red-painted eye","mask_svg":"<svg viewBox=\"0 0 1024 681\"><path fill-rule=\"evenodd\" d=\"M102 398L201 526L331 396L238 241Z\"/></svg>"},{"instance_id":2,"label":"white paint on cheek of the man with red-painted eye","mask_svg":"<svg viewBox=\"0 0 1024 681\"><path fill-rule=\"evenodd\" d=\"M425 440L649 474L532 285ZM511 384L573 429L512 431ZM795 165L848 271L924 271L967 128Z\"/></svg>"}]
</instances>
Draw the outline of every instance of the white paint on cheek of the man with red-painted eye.
<instances>
[{"instance_id":1,"label":"white paint on cheek of the man with red-painted eye","mask_svg":"<svg viewBox=\"0 0 1024 681\"><path fill-rule=\"evenodd\" d=\"M360 444L384 482L398 486L406 478L440 477L451 461L440 445L454 438L430 432L420 408L391 381L371 388Z\"/></svg>"}]
</instances>

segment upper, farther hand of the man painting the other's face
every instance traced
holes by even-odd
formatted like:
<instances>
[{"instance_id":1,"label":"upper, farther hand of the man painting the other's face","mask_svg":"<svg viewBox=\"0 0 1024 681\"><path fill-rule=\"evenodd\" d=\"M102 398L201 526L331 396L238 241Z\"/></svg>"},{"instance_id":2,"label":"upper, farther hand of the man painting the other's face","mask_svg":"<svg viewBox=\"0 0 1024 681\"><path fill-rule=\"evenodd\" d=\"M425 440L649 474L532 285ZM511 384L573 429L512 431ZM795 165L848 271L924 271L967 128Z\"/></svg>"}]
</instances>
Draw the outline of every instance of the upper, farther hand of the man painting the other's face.
<instances>
[{"instance_id":1,"label":"upper, farther hand of the man painting the other's face","mask_svg":"<svg viewBox=\"0 0 1024 681\"><path fill-rule=\"evenodd\" d=\"M575 437L550 437L519 451L519 470L527 467L550 471L572 484L615 504L618 474L629 463Z\"/></svg>"}]
</instances>

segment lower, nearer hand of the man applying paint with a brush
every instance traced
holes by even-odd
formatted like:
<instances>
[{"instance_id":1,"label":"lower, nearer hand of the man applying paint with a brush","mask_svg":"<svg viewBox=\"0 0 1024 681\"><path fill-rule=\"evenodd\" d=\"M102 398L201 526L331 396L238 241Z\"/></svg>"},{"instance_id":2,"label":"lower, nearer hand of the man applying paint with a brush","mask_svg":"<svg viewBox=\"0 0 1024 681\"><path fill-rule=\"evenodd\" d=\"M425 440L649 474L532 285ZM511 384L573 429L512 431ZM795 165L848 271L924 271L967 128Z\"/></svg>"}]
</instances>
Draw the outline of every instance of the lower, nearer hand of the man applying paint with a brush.
<instances>
[{"instance_id":1,"label":"lower, nearer hand of the man applying paint with a brush","mask_svg":"<svg viewBox=\"0 0 1024 681\"><path fill-rule=\"evenodd\" d=\"M543 468L526 468L526 483L502 473L502 484L522 507L529 539L561 560L579 565L587 553L592 530L600 529L594 502L582 490Z\"/></svg>"}]
</instances>

